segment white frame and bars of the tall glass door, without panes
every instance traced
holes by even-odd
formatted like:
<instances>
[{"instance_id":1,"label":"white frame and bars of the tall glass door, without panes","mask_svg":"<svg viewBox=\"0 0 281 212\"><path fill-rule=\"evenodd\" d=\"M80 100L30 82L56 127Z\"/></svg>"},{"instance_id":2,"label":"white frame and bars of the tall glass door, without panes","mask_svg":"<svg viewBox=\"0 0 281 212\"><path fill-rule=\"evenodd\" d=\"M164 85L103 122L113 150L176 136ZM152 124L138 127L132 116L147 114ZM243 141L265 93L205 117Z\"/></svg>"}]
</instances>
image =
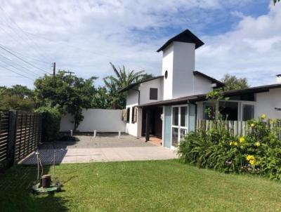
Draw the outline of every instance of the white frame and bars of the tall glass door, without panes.
<instances>
[{"instance_id":1,"label":"white frame and bars of the tall glass door, without panes","mask_svg":"<svg viewBox=\"0 0 281 212\"><path fill-rule=\"evenodd\" d=\"M178 126L173 125L173 119L174 119L174 113L173 113L173 109L174 107L178 107ZM186 117L186 126L181 126L181 107L187 107L187 117ZM185 129L186 132L188 133L188 126L189 126L189 106L188 104L186 105L173 105L171 107L171 148L174 149L176 147L174 147L172 145L172 138L173 138L173 128L178 128L178 144L181 141L181 129Z\"/></svg>"}]
</instances>

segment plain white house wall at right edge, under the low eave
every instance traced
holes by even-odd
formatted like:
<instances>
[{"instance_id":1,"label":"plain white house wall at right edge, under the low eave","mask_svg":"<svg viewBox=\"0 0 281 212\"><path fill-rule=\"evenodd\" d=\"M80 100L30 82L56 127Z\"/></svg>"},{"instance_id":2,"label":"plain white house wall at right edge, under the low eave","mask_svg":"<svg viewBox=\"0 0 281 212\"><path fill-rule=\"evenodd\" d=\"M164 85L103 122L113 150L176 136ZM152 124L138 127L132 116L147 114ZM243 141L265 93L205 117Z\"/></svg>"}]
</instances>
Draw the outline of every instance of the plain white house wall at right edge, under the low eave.
<instances>
[{"instance_id":1,"label":"plain white house wall at right edge, under the low eave","mask_svg":"<svg viewBox=\"0 0 281 212\"><path fill-rule=\"evenodd\" d=\"M271 89L269 92L256 93L256 116L266 114L268 119L281 119L281 88Z\"/></svg>"}]
</instances>

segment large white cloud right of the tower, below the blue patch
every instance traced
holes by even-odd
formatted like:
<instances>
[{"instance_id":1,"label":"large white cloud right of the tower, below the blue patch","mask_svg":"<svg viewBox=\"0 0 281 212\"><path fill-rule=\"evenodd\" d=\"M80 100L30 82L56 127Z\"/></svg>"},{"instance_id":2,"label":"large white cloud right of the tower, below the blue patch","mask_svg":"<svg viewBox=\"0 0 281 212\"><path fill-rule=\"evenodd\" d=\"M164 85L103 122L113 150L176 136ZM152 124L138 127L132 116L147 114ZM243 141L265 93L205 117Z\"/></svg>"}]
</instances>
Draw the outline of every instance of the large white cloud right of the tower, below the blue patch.
<instances>
[{"instance_id":1,"label":"large white cloud right of the tower, below the blue patch","mask_svg":"<svg viewBox=\"0 0 281 212\"><path fill-rule=\"evenodd\" d=\"M252 86L274 84L281 73L281 6L267 15L244 16L226 34L204 37L197 51L197 68L220 79L223 74L247 77Z\"/></svg>"}]
</instances>

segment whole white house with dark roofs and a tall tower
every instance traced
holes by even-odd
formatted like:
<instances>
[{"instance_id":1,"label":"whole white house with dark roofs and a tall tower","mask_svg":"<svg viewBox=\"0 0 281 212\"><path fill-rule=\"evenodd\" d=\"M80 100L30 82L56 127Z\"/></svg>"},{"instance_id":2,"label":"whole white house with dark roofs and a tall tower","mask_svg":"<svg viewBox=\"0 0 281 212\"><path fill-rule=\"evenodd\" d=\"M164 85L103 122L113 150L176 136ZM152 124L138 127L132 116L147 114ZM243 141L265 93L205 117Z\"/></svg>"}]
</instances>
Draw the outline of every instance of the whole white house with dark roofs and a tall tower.
<instances>
[{"instance_id":1,"label":"whole white house with dark roofs and a tall tower","mask_svg":"<svg viewBox=\"0 0 281 212\"><path fill-rule=\"evenodd\" d=\"M206 109L220 110L229 120L243 120L267 114L281 118L281 75L278 83L226 91L228 101L211 102L206 94L224 84L195 71L195 51L204 43L188 29L166 41L162 51L162 75L131 84L127 92L126 132L149 140L155 136L164 147L176 147L188 131L194 131L197 119L208 119Z\"/></svg>"}]
</instances>

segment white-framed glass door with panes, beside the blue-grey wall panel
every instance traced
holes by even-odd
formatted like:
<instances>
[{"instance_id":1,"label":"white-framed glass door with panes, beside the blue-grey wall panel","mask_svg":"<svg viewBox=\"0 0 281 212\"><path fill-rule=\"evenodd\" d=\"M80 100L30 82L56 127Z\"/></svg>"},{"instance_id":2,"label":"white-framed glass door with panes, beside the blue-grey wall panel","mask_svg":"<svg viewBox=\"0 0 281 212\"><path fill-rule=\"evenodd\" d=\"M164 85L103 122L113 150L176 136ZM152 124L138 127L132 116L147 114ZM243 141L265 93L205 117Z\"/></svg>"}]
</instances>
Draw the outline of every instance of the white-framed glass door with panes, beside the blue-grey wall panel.
<instances>
[{"instance_id":1,"label":"white-framed glass door with panes, beside the blue-grey wall panel","mask_svg":"<svg viewBox=\"0 0 281 212\"><path fill-rule=\"evenodd\" d=\"M171 146L177 147L188 133L188 105L173 107L171 125Z\"/></svg>"}]
</instances>

